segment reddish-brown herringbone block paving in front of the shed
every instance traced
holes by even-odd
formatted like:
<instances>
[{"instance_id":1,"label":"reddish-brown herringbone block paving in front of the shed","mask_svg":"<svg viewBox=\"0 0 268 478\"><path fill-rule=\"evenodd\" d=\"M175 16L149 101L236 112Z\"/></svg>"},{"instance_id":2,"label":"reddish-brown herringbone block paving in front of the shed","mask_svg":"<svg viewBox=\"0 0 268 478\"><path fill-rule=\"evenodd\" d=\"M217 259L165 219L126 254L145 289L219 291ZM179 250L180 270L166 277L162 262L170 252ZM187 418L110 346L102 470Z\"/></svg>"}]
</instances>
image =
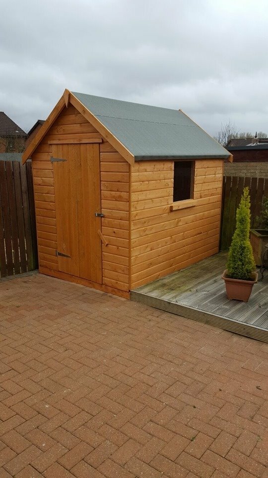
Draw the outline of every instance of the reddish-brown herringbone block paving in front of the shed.
<instances>
[{"instance_id":1,"label":"reddish-brown herringbone block paving in front of the shed","mask_svg":"<svg viewBox=\"0 0 268 478\"><path fill-rule=\"evenodd\" d=\"M267 476L267 344L39 274L0 327L0 478Z\"/></svg>"}]
</instances>

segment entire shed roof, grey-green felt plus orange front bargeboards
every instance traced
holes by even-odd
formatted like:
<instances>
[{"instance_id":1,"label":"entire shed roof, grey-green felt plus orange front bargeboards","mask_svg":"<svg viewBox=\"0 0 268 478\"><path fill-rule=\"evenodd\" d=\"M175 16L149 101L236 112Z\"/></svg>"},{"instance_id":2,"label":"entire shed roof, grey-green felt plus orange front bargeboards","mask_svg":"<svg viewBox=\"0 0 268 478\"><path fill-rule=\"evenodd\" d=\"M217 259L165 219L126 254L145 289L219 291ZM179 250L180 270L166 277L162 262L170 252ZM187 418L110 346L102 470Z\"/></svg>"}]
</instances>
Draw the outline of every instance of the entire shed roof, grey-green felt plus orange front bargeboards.
<instances>
[{"instance_id":1,"label":"entire shed roof, grey-green felt plus orange front bargeboards","mask_svg":"<svg viewBox=\"0 0 268 478\"><path fill-rule=\"evenodd\" d=\"M72 104L131 164L142 160L232 160L231 154L181 110L169 110L65 90L23 153L23 163Z\"/></svg>"}]
</instances>

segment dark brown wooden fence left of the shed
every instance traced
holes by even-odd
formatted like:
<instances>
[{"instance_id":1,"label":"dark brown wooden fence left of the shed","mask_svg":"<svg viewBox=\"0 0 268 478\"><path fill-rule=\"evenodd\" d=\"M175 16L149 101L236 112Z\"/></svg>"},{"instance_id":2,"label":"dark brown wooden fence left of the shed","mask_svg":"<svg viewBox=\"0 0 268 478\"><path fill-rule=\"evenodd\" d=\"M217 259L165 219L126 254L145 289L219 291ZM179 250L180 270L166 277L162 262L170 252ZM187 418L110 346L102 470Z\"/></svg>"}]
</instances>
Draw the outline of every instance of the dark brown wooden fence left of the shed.
<instances>
[{"instance_id":1,"label":"dark brown wooden fence left of the shed","mask_svg":"<svg viewBox=\"0 0 268 478\"><path fill-rule=\"evenodd\" d=\"M32 165L13 159L0 157L0 277L38 267Z\"/></svg>"}]
</instances>

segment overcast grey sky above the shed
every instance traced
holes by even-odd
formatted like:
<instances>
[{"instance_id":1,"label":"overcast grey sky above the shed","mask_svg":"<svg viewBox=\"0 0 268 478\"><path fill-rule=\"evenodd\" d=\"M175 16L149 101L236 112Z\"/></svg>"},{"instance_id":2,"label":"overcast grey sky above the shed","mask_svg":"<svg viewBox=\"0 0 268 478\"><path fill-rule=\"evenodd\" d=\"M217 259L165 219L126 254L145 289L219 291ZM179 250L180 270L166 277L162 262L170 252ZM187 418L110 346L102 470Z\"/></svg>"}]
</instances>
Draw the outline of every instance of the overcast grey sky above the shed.
<instances>
[{"instance_id":1,"label":"overcast grey sky above the shed","mask_svg":"<svg viewBox=\"0 0 268 478\"><path fill-rule=\"evenodd\" d=\"M28 131L65 88L268 133L268 1L0 0L0 111Z\"/></svg>"}]
</instances>

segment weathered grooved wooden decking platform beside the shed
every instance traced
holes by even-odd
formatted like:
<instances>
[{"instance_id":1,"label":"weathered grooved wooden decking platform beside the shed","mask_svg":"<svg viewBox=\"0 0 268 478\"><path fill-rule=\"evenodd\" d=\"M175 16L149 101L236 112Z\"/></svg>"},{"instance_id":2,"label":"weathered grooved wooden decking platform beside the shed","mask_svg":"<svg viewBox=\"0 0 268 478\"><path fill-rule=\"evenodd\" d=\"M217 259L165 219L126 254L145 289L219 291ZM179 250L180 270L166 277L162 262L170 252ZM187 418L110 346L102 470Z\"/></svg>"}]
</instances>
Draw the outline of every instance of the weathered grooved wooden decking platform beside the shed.
<instances>
[{"instance_id":1,"label":"weathered grooved wooden decking platform beside the shed","mask_svg":"<svg viewBox=\"0 0 268 478\"><path fill-rule=\"evenodd\" d=\"M268 342L268 270L254 285L249 302L228 300L221 279L226 256L220 252L138 287L131 299Z\"/></svg>"}]
</instances>

